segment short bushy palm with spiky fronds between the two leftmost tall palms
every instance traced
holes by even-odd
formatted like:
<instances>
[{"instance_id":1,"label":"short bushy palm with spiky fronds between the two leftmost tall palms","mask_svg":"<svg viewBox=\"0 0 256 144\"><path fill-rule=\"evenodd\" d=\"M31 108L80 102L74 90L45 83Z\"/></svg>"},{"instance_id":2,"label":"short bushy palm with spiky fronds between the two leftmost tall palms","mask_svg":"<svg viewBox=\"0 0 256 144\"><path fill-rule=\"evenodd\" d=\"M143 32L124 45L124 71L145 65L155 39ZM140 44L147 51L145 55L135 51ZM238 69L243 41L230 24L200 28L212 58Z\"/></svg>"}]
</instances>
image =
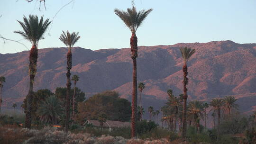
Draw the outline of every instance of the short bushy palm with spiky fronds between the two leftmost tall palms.
<instances>
[{"instance_id":1,"label":"short bushy palm with spiky fronds between the two leftmost tall palms","mask_svg":"<svg viewBox=\"0 0 256 144\"><path fill-rule=\"evenodd\" d=\"M43 123L57 124L64 114L62 102L55 96L49 96L39 105L37 114Z\"/></svg>"}]
</instances>

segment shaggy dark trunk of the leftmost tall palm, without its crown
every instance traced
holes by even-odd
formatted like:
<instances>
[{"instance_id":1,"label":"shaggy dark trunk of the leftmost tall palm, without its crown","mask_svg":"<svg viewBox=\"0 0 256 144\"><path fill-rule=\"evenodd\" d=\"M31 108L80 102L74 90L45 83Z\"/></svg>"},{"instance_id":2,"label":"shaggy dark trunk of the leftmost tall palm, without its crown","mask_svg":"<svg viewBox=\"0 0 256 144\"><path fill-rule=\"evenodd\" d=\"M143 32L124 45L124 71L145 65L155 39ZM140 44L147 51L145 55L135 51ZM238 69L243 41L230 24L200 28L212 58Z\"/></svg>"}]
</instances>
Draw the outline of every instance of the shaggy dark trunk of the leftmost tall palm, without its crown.
<instances>
[{"instance_id":1,"label":"shaggy dark trunk of the leftmost tall palm, without its crown","mask_svg":"<svg viewBox=\"0 0 256 144\"><path fill-rule=\"evenodd\" d=\"M37 46L33 45L29 53L29 90L27 95L26 121L25 127L31 127L31 104L33 100L33 83L37 72Z\"/></svg>"}]
</instances>

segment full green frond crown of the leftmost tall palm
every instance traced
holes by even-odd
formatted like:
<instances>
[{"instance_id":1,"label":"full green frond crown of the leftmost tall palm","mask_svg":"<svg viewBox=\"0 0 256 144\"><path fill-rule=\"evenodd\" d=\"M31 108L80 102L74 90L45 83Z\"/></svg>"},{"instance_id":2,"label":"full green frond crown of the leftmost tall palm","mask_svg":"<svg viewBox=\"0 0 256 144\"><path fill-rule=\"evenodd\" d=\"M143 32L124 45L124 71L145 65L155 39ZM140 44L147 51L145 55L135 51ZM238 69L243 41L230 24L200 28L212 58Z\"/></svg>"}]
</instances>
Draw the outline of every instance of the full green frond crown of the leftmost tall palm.
<instances>
[{"instance_id":1,"label":"full green frond crown of the leftmost tall palm","mask_svg":"<svg viewBox=\"0 0 256 144\"><path fill-rule=\"evenodd\" d=\"M40 20L38 20L38 17L35 15L29 15L28 19L24 16L23 21L24 22L18 21L23 31L14 31L14 33L20 34L30 41L32 45L37 45L39 40L44 39L43 35L51 23L49 18L44 21L44 16L42 16Z\"/></svg>"}]
</instances>

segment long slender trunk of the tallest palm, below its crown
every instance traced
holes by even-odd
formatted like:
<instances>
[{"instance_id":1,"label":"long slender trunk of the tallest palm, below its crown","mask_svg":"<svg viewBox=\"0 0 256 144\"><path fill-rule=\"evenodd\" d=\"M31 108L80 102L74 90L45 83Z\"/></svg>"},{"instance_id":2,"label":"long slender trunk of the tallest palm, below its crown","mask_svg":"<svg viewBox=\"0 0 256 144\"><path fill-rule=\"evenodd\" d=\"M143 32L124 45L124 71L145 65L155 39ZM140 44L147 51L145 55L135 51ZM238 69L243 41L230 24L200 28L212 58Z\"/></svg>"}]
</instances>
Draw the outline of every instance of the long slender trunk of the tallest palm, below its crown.
<instances>
[{"instance_id":1,"label":"long slender trunk of the tallest palm, below its crown","mask_svg":"<svg viewBox=\"0 0 256 144\"><path fill-rule=\"evenodd\" d=\"M133 60L133 73L132 73L132 117L131 117L131 137L136 136L136 123L137 123L137 36L135 33L130 38L131 45L131 58Z\"/></svg>"}]
</instances>

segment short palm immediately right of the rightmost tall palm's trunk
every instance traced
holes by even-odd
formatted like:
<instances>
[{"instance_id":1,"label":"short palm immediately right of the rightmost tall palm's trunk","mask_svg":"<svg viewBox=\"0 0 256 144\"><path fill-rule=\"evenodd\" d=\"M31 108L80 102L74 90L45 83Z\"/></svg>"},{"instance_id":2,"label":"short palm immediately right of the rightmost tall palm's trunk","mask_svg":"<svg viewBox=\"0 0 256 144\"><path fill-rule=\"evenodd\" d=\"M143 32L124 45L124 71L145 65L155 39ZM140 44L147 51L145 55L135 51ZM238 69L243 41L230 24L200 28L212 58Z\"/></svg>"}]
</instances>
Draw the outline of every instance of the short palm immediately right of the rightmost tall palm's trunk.
<instances>
[{"instance_id":1,"label":"short palm immediately right of the rightmost tall palm's trunk","mask_svg":"<svg viewBox=\"0 0 256 144\"><path fill-rule=\"evenodd\" d=\"M205 116L203 103L198 100L189 102L188 104L188 116L193 119L194 126L197 127L197 133L200 132L200 118Z\"/></svg>"}]
</instances>

